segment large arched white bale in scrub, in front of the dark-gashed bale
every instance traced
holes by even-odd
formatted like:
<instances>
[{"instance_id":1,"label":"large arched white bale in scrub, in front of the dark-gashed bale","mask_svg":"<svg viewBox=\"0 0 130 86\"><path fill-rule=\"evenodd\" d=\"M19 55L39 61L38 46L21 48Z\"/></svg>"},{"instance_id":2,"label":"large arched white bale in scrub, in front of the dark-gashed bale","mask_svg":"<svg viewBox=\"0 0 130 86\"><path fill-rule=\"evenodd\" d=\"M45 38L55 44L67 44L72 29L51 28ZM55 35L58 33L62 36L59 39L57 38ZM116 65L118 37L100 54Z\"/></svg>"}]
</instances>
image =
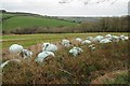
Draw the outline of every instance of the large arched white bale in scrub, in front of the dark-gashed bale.
<instances>
[{"instance_id":1,"label":"large arched white bale in scrub, in front of the dark-gashed bale","mask_svg":"<svg viewBox=\"0 0 130 86\"><path fill-rule=\"evenodd\" d=\"M42 52L42 53L39 53L37 58L36 58L36 61L37 62L43 62L43 60L48 57L48 56L53 56L55 57L54 53L52 52Z\"/></svg>"}]
</instances>

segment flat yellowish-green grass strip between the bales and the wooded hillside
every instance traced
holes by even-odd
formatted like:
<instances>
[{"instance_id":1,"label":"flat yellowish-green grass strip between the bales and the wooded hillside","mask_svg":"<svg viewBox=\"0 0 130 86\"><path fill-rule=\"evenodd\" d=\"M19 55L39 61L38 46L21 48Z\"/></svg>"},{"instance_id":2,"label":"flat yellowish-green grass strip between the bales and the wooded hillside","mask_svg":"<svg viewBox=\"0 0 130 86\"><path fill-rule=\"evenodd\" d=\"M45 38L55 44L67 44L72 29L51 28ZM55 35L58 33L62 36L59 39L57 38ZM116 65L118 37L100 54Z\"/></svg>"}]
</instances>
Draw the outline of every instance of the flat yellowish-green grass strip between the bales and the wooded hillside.
<instances>
[{"instance_id":1,"label":"flat yellowish-green grass strip between the bales and the wooded hillside","mask_svg":"<svg viewBox=\"0 0 130 86\"><path fill-rule=\"evenodd\" d=\"M9 47L11 44L17 43L22 44L23 46L27 47L37 43L42 42L55 42L60 41L64 38L73 39L73 38L82 38L84 39L88 35L104 35L107 32L93 32L93 33L42 33L42 34L6 34L2 37L2 47ZM112 34L120 34L119 32L115 32ZM128 34L127 32L123 34Z\"/></svg>"}]
</instances>

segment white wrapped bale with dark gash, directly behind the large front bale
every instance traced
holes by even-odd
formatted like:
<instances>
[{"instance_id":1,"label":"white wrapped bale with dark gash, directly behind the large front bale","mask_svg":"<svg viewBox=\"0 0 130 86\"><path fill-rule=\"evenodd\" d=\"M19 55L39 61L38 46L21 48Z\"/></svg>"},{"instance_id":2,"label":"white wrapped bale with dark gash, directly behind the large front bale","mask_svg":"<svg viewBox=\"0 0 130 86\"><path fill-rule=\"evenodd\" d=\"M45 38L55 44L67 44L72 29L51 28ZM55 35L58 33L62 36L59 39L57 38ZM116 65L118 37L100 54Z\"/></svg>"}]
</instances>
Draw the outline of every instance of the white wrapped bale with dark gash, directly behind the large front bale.
<instances>
[{"instance_id":1,"label":"white wrapped bale with dark gash, directly behind the large front bale","mask_svg":"<svg viewBox=\"0 0 130 86\"><path fill-rule=\"evenodd\" d=\"M42 48L42 52L55 52L57 51L57 46L54 45L54 44L51 44L51 43L43 43L43 48Z\"/></svg>"}]
</instances>

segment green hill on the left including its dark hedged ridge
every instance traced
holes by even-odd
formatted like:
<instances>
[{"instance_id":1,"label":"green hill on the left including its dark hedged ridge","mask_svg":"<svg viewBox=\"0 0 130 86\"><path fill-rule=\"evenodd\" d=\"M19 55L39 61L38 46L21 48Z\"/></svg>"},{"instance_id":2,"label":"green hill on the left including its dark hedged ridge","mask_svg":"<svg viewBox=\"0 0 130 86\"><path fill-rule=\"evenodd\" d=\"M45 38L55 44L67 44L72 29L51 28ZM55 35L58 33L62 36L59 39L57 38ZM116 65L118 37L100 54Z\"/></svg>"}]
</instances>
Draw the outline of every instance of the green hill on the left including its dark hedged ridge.
<instances>
[{"instance_id":1,"label":"green hill on the left including its dark hedged ridge","mask_svg":"<svg viewBox=\"0 0 130 86\"><path fill-rule=\"evenodd\" d=\"M2 19L2 26L4 31L11 31L20 28L56 28L78 25L76 23L60 20L56 18L29 13L3 13L2 17L0 18Z\"/></svg>"}]
</instances>

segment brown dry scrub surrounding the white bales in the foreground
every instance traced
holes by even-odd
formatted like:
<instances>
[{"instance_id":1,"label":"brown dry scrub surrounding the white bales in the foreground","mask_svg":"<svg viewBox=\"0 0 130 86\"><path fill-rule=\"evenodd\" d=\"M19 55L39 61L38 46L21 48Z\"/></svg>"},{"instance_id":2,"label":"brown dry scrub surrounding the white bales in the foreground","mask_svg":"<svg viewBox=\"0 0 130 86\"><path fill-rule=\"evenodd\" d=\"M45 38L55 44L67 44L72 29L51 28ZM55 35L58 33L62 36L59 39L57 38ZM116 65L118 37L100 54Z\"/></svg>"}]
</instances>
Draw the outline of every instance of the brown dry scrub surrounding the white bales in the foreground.
<instances>
[{"instance_id":1,"label":"brown dry scrub surrounding the white bales in the foreground","mask_svg":"<svg viewBox=\"0 0 130 86\"><path fill-rule=\"evenodd\" d=\"M61 46L58 43L56 43ZM68 54L73 47L61 47L55 52L55 58L41 64L35 62L37 54L41 51L41 44L28 47L34 52L29 59L23 59L16 55L3 51L3 61L11 58L20 58L22 63L9 63L3 68L3 84L90 84L93 80L105 73L127 70L129 58L129 41L109 44L95 44L95 49L89 49L88 45L75 43L83 53L77 57Z\"/></svg>"}]
</instances>

